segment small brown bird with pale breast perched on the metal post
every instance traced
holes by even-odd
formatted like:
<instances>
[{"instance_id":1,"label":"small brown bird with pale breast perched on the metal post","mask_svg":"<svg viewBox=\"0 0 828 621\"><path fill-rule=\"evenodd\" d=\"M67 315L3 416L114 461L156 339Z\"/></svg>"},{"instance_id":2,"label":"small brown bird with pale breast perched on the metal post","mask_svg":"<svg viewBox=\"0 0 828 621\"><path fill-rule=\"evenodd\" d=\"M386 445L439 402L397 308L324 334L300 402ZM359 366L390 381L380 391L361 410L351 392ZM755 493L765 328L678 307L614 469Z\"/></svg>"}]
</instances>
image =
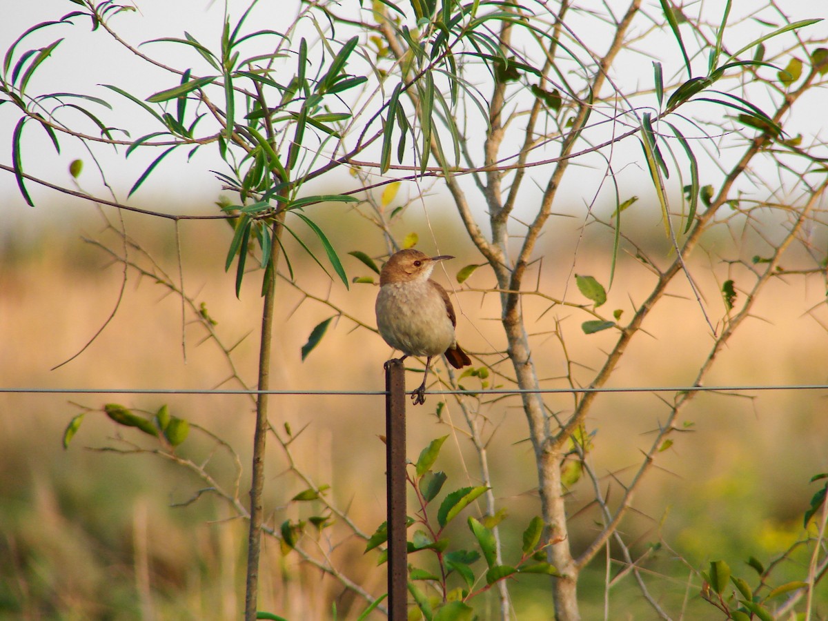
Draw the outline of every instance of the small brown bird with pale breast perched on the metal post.
<instances>
[{"instance_id":1,"label":"small brown bird with pale breast perched on the metal post","mask_svg":"<svg viewBox=\"0 0 828 621\"><path fill-rule=\"evenodd\" d=\"M427 356L422 384L412 394L414 405L426 402L426 379L432 358L445 354L454 368L471 364L455 338L457 318L449 295L430 278L436 263L450 258L454 257L428 257L419 250L406 248L392 254L379 274L379 334L402 352L400 360Z\"/></svg>"}]
</instances>

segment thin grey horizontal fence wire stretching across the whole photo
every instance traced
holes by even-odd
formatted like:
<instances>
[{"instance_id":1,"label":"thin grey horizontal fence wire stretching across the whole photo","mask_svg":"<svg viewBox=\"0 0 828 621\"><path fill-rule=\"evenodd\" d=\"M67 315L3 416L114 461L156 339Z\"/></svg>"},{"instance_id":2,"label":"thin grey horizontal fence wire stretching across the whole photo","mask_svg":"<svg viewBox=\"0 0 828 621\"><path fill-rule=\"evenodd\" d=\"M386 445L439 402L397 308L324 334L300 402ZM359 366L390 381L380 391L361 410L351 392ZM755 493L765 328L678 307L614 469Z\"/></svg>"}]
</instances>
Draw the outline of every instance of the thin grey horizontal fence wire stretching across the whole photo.
<instances>
[{"instance_id":1,"label":"thin grey horizontal fence wire stretching across the whole photo","mask_svg":"<svg viewBox=\"0 0 828 621\"><path fill-rule=\"evenodd\" d=\"M430 395L522 395L571 394L586 392L749 392L782 390L828 390L828 384L778 384L759 386L630 386L617 388L489 388L480 390L433 390ZM412 391L409 391L411 393ZM26 394L135 394L135 395L296 395L334 397L379 397L385 390L244 390L230 388L11 388L0 393Z\"/></svg>"}]
</instances>

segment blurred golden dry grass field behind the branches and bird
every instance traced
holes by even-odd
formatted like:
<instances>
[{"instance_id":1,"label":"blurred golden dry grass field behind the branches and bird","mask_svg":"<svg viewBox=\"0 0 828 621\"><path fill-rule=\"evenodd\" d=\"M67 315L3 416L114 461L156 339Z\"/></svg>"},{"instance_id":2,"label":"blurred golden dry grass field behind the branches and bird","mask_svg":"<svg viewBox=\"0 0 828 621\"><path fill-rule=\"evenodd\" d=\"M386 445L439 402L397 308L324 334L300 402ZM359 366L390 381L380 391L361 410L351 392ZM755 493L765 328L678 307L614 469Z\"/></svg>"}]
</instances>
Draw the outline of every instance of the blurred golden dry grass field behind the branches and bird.
<instances>
[{"instance_id":1,"label":"blurred golden dry grass field behind the branches and bird","mask_svg":"<svg viewBox=\"0 0 828 621\"><path fill-rule=\"evenodd\" d=\"M131 233L153 253L166 272L177 279L176 251L171 227L130 220ZM330 227L329 227L330 229ZM425 228L421 238L425 239ZM656 234L658 229L653 229ZM176 296L149 277L128 272L118 310L111 323L82 354L50 370L72 355L103 325L118 300L122 268L108 262L99 250L80 240L97 236L95 220L67 224L37 239L7 238L0 262L0 384L3 388L192 388L224 386L229 366L214 342L205 341L200 325L186 317L186 357L182 352L181 304ZM334 230L331 237L344 256L349 277L367 275L361 264L345 253L363 250L375 256L377 244L354 243L374 239L358 231ZM550 283L551 296L582 301L574 285L575 272L592 273L606 282L609 258L579 249L573 260L574 236L550 233L550 253L541 277ZM103 238L118 248L112 237ZM600 240L593 240L600 241ZM205 302L216 330L228 345L236 344L233 359L249 383L255 378L260 298L257 277L248 277L240 299L233 295L233 274L224 273L229 232L218 224L185 224L182 256L185 291ZM441 252L458 259L456 270L469 262L465 248ZM712 240L710 253L694 258L700 288L711 319L723 313L718 287L725 277L739 282L739 268L727 267L718 257L727 254L727 240ZM421 243L426 252L429 243ZM595 248L598 248L596 245ZM749 252L749 251L746 251ZM666 256L666 252L664 253ZM137 255L136 255L137 256ZM296 253L294 269L308 291L329 299L349 315L373 326L373 286L352 285L345 291L331 283L318 266ZM712 270L711 270L712 266ZM728 272L730 270L730 272ZM710 277L715 273L719 282ZM728 276L724 276L728 274ZM445 284L445 274L438 275ZM629 309L647 289L647 272L622 259L608 307ZM452 281L453 282L453 281ZM481 269L466 283L489 286ZM710 346L710 329L686 283L676 286L674 298L653 315L612 385L681 386L691 383ZM304 299L284 281L275 335L277 357L272 384L291 390L365 390L383 388L382 363L388 347L373 332L340 317L307 359L301 346L310 330L335 311ZM684 287L684 288L682 288ZM709 378L710 384L811 384L828 381L828 325L821 282L788 278L776 282L758 307L757 318L724 351ZM458 325L461 342L472 352L498 349L503 339L495 300L479 292L460 291ZM556 378L566 372L561 342L552 335L560 321L566 347L583 366L575 371L588 382L602 351L609 349L612 331L580 334L579 315L571 308L553 307L527 296L527 317L537 319L534 355L550 378L548 385L563 387ZM803 309L814 307L812 315ZM628 310L628 312L630 312ZM356 328L356 329L354 329ZM243 338L245 337L246 338ZM440 373L445 373L441 368ZM409 373L408 385L415 385ZM826 391L709 393L701 395L687 412L688 433L675 436L638 496L638 513L622 528L638 548L661 538L672 546L662 550L652 566L651 586L663 592L674 610L686 610L686 619L713 619L715 609L701 601L699 582L688 585L691 572L676 560L705 569L708 561L724 559L734 573L749 578L744 565L749 556L764 563L781 554L802 536L802 513L816 491L808 484L812 474L828 470L828 416ZM537 511L532 488L536 484L531 450L522 442L525 424L510 397L485 406L494 431L489 449L498 502L508 507L507 541ZM669 396L667 396L669 398ZM456 487L476 481L476 457L465 436L459 411L449 403L435 416L439 397L428 397L425 407L409 408L409 453L412 459L426 443L450 434L441 467ZM248 446L253 430L248 397L228 395L147 394L32 394L0 395L0 618L2 619L233 619L243 602L243 546L245 524L232 517L218 498L205 494L186 503L204 487L192 472L170 460L147 453L121 455L102 447L128 450L152 448L146 436L129 433L101 412L104 403L118 402L136 411L155 412L166 403L176 416L209 429L238 453L243 466L239 498L244 501L248 478ZM549 398L551 407L566 411L571 397ZM68 450L61 446L72 416L91 408ZM589 421L595 435L590 455L604 476L606 489L619 491L637 465L666 409L652 393L619 393L601 397ZM318 484L330 484L330 496L363 532L373 532L384 519L383 397L284 396L272 405L272 423L288 423L304 430L291 446L301 469ZM309 517L313 508L286 505L286 499L305 489L287 471L285 455L270 446L268 502L270 523ZM229 453L216 449L204 434L191 432L178 454L197 463L209 461L222 484L232 487L234 469ZM470 483L469 483L470 482ZM573 511L582 508L590 489L572 489ZM303 513L304 512L304 513ZM573 537L585 537L595 515L587 508L576 518ZM580 532L580 535L579 535ZM457 537L466 537L460 528ZM309 537L313 537L309 535ZM319 538L320 551L359 580L363 588L383 592L384 570L376 556L363 556L364 543ZM334 546L335 544L335 546ZM330 550L328 546L330 547ZM801 562L798 560L797 562ZM789 563L789 575L802 578L803 567ZM354 603L336 580L302 565L295 552L282 556L277 544L267 545L262 562L262 609L287 619L333 618L335 602L340 619L354 619L364 604ZM585 619L603 613L604 568L585 580L581 595ZM654 586L653 586L654 585ZM543 579L522 579L516 585L518 619L548 619L548 595ZM686 598L686 603L682 600ZM823 597L818 619L828 615ZM612 619L650 619L640 594L628 580L610 593ZM638 611L638 612L636 612ZM481 611L481 619L488 619ZM697 616L702 615L702 616ZM710 615L710 616L706 616Z\"/></svg>"}]
</instances>

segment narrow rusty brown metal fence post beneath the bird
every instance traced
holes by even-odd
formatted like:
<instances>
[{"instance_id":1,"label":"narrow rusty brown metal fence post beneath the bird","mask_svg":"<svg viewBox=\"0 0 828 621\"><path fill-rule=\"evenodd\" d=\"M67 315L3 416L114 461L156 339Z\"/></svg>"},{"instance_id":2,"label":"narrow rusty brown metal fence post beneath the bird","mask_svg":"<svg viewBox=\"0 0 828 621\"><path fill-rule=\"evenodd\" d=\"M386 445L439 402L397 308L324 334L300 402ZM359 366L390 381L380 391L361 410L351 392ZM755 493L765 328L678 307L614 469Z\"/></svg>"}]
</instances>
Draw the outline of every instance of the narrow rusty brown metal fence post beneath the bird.
<instances>
[{"instance_id":1,"label":"narrow rusty brown metal fence post beneath the bird","mask_svg":"<svg viewBox=\"0 0 828 621\"><path fill-rule=\"evenodd\" d=\"M385 363L385 459L388 490L388 619L408 618L406 527L406 377L402 360Z\"/></svg>"}]
</instances>

